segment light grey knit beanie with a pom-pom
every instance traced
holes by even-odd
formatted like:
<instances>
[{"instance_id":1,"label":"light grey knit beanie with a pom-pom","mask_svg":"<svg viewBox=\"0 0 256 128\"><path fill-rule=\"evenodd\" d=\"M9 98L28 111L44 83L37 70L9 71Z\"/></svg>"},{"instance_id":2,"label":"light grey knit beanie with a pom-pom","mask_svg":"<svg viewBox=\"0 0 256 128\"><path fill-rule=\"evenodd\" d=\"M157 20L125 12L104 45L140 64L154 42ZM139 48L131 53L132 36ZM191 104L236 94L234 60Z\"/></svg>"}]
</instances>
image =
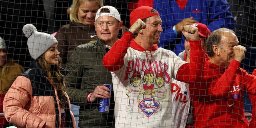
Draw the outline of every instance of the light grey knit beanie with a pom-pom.
<instances>
[{"instance_id":1,"label":"light grey knit beanie with a pom-pom","mask_svg":"<svg viewBox=\"0 0 256 128\"><path fill-rule=\"evenodd\" d=\"M54 43L58 43L54 36L44 32L38 32L33 24L26 24L23 26L22 31L28 38L29 54L35 60L44 54Z\"/></svg>"}]
</instances>

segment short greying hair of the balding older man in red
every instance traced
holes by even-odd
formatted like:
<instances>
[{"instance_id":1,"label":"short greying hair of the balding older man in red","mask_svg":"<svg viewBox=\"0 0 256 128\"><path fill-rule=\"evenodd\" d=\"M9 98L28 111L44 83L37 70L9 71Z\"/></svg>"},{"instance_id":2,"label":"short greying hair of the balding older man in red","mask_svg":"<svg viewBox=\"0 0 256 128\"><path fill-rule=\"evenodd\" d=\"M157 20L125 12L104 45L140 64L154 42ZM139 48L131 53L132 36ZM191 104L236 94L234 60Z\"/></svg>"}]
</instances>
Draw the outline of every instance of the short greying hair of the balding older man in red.
<instances>
[{"instance_id":1,"label":"short greying hair of the balding older man in red","mask_svg":"<svg viewBox=\"0 0 256 128\"><path fill-rule=\"evenodd\" d=\"M217 45L219 46L220 48L222 48L222 45L220 44L220 41L222 40L222 35L223 35L223 32L232 32L235 34L235 32L231 29L228 29L228 28L219 28L217 30L214 30L209 38L206 40L205 42L205 45L206 45L206 53L212 57L214 56L214 52L213 52L213 49L212 49L212 46L213 45Z\"/></svg>"}]
</instances>

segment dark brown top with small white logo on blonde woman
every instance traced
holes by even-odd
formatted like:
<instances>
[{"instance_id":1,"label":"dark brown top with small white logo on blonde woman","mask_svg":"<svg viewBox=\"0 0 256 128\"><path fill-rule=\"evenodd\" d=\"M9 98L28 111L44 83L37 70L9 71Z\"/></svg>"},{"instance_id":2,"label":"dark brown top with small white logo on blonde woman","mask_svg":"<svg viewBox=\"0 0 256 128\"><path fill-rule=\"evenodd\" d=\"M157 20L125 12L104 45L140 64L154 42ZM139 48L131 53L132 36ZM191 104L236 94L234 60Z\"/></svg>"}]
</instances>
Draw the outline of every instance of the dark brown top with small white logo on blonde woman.
<instances>
[{"instance_id":1,"label":"dark brown top with small white logo on blonde woman","mask_svg":"<svg viewBox=\"0 0 256 128\"><path fill-rule=\"evenodd\" d=\"M58 51L64 68L67 58L72 55L76 46L96 40L95 35L94 26L85 26L77 22L70 22L58 30L55 37L58 40Z\"/></svg>"}]
</instances>

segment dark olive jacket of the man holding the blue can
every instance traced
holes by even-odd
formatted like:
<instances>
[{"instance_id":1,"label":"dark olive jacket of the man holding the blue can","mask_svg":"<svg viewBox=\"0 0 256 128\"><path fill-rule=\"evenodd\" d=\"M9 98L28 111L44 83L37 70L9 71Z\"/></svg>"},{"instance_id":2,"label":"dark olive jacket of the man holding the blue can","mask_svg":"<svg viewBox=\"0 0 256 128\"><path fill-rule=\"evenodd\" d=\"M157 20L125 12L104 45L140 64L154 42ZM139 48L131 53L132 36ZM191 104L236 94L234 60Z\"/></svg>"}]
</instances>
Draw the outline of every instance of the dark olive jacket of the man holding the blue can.
<instances>
[{"instance_id":1,"label":"dark olive jacket of the man holding the blue can","mask_svg":"<svg viewBox=\"0 0 256 128\"><path fill-rule=\"evenodd\" d=\"M114 127L114 93L111 92L110 111L98 111L99 100L91 103L86 98L96 86L102 84L112 85L111 73L103 66L102 59L106 54L106 46L102 40L82 44L75 48L74 54L68 58L65 77L68 95L72 104L80 106L80 128L88 127ZM113 88L113 87L112 87Z\"/></svg>"}]
</instances>

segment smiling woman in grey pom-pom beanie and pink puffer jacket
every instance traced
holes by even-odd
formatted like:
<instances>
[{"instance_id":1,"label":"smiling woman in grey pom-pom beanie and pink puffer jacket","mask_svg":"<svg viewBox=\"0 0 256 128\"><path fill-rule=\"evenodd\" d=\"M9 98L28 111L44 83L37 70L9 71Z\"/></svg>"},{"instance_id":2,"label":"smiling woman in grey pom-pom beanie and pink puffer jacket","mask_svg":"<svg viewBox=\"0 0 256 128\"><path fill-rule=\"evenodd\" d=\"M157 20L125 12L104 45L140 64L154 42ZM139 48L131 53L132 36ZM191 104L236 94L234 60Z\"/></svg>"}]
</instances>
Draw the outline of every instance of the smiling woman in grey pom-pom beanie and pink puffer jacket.
<instances>
[{"instance_id":1,"label":"smiling woman in grey pom-pom beanie and pink puffer jacket","mask_svg":"<svg viewBox=\"0 0 256 128\"><path fill-rule=\"evenodd\" d=\"M20 128L75 128L56 38L32 24L26 24L23 33L34 61L6 93L5 118Z\"/></svg>"}]
</instances>

